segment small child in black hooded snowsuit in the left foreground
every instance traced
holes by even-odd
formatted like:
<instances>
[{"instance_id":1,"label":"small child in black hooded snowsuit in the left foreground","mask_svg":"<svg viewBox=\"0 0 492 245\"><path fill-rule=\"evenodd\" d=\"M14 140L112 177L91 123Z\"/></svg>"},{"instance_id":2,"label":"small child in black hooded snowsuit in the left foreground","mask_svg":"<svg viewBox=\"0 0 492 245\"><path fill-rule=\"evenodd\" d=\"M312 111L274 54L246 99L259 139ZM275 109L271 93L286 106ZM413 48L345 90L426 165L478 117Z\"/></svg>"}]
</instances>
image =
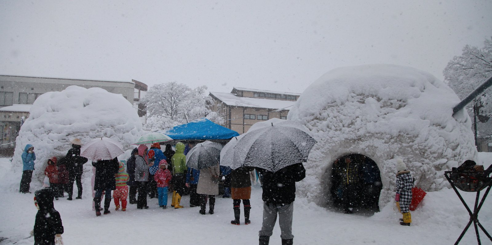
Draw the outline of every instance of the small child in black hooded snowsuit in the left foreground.
<instances>
[{"instance_id":1,"label":"small child in black hooded snowsuit in the left foreground","mask_svg":"<svg viewBox=\"0 0 492 245\"><path fill-rule=\"evenodd\" d=\"M38 209L34 221L34 245L55 245L55 237L62 239L62 218L53 205L53 198L54 193L49 188L34 192L34 205Z\"/></svg>"}]
</instances>

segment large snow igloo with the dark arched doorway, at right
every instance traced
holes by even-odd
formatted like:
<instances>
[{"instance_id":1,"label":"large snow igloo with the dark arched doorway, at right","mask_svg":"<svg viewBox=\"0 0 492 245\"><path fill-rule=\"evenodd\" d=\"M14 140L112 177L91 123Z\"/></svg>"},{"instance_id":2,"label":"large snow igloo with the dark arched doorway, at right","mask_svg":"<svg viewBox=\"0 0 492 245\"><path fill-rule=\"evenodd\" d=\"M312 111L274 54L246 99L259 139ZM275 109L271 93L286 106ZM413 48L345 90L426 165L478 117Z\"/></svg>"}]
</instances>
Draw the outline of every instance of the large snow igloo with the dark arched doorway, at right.
<instances>
[{"instance_id":1,"label":"large snow igloo with the dark arched doorway, at right","mask_svg":"<svg viewBox=\"0 0 492 245\"><path fill-rule=\"evenodd\" d=\"M459 102L446 84L411 67L374 64L327 72L287 116L305 124L318 141L298 194L329 204L334 162L344 156L375 162L381 208L394 197L396 158L403 159L415 185L425 191L449 186L444 171L477 156L468 114L461 110L452 117Z\"/></svg>"}]
</instances>

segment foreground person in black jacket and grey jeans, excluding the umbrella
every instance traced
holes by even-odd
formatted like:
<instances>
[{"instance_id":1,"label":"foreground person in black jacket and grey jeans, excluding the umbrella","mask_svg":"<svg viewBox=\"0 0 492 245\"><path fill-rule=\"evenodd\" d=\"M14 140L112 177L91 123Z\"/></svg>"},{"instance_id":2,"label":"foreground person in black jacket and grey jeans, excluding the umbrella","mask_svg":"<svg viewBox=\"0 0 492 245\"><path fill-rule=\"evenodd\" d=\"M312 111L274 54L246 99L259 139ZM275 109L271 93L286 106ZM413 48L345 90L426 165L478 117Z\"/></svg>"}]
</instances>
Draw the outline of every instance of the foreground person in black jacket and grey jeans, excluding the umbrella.
<instances>
[{"instance_id":1,"label":"foreground person in black jacket and grey jeans, excluding the umbrella","mask_svg":"<svg viewBox=\"0 0 492 245\"><path fill-rule=\"evenodd\" d=\"M292 214L296 198L296 182L306 177L306 169L302 163L284 167L273 173L256 168L263 175L263 224L259 231L259 244L268 245L272 236L277 214L280 226L282 245L293 244Z\"/></svg>"}]
</instances>

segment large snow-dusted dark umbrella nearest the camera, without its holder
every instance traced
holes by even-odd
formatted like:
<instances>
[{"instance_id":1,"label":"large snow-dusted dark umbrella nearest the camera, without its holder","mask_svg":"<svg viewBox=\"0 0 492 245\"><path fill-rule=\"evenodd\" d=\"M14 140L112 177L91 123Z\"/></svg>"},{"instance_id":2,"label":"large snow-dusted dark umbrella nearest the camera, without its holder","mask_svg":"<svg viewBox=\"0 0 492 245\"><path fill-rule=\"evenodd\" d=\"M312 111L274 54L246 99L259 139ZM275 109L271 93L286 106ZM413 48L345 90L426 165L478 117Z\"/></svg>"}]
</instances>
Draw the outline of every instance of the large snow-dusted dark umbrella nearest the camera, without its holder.
<instances>
[{"instance_id":1,"label":"large snow-dusted dark umbrella nearest the camera, without its holder","mask_svg":"<svg viewBox=\"0 0 492 245\"><path fill-rule=\"evenodd\" d=\"M238 141L234 150L244 166L276 172L286 166L306 162L316 140L299 122L277 118L256 122Z\"/></svg>"}]
</instances>

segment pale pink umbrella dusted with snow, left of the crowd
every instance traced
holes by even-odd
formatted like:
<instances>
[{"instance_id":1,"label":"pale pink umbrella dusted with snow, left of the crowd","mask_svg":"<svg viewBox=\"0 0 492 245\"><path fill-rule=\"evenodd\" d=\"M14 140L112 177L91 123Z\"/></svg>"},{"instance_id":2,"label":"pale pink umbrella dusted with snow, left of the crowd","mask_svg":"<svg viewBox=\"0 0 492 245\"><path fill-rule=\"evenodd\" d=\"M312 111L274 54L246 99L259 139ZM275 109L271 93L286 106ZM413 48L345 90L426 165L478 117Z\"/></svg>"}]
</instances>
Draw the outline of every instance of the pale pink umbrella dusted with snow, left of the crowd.
<instances>
[{"instance_id":1,"label":"pale pink umbrella dusted with snow, left of the crowd","mask_svg":"<svg viewBox=\"0 0 492 245\"><path fill-rule=\"evenodd\" d=\"M123 154L123 145L110 138L97 138L85 144L80 149L80 156L90 160L111 160Z\"/></svg>"}]
</instances>

